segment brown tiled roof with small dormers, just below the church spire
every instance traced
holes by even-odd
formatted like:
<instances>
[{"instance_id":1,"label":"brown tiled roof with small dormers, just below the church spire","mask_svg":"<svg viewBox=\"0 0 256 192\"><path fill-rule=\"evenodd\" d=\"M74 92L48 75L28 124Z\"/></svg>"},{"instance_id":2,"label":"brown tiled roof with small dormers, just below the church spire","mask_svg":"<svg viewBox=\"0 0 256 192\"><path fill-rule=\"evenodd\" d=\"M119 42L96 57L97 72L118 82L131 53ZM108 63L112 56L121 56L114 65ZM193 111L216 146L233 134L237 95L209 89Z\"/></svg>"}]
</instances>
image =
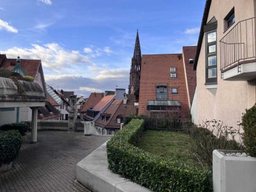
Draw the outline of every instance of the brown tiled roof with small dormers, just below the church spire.
<instances>
[{"instance_id":1,"label":"brown tiled roof with small dormers, just below the church spire","mask_svg":"<svg viewBox=\"0 0 256 192\"><path fill-rule=\"evenodd\" d=\"M122 116L124 118L125 116L129 116L136 112L136 108L134 106L135 95L128 94L127 98L128 100L126 105L123 104L122 99L114 100L108 109L104 111L104 114L110 115L109 120L104 122L104 120L101 120L101 117L99 117L95 121L95 124L103 128L120 129L120 124L116 122L116 118L118 116Z\"/></svg>"}]
</instances>

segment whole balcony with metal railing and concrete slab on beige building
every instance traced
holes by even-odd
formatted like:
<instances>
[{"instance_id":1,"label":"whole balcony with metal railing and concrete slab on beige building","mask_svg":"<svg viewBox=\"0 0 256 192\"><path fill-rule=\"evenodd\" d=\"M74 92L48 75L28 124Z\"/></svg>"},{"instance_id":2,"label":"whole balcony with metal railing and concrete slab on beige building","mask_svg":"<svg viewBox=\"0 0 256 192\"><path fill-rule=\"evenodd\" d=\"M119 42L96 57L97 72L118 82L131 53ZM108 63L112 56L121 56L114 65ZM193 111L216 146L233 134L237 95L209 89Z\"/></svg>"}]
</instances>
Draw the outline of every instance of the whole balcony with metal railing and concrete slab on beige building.
<instances>
[{"instance_id":1,"label":"whole balcony with metal railing and concrete slab on beige building","mask_svg":"<svg viewBox=\"0 0 256 192\"><path fill-rule=\"evenodd\" d=\"M221 79L256 79L256 18L241 20L220 40Z\"/></svg>"}]
</instances>

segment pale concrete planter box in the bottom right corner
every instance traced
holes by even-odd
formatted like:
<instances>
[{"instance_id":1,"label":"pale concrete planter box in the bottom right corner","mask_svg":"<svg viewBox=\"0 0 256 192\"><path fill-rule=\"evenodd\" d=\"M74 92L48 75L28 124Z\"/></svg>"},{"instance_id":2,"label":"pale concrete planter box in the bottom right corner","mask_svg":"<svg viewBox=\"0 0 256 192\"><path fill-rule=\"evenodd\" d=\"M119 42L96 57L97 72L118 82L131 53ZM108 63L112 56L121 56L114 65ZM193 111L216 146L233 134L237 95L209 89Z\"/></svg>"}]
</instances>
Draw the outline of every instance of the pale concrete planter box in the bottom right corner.
<instances>
[{"instance_id":1,"label":"pale concrete planter box in the bottom right corner","mask_svg":"<svg viewBox=\"0 0 256 192\"><path fill-rule=\"evenodd\" d=\"M214 192L255 192L256 158L225 156L220 152L239 151L214 150L212 152Z\"/></svg>"}]
</instances>

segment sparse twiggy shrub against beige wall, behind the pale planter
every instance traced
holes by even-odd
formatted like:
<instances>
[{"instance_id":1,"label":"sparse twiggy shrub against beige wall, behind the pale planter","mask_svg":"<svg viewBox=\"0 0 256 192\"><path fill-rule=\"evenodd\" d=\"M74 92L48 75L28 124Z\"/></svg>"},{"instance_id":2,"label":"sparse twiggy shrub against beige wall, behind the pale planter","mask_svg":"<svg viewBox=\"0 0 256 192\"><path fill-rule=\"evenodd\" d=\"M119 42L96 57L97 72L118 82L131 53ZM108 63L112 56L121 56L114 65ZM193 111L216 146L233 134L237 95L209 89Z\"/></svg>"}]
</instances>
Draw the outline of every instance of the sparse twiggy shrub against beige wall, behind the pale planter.
<instances>
[{"instance_id":1,"label":"sparse twiggy shrub against beige wall, behind the pale planter","mask_svg":"<svg viewBox=\"0 0 256 192\"><path fill-rule=\"evenodd\" d=\"M212 151L244 150L240 128L234 129L220 120L207 120L198 127L191 127L189 134L195 140L191 153L202 166L212 167Z\"/></svg>"}]
</instances>

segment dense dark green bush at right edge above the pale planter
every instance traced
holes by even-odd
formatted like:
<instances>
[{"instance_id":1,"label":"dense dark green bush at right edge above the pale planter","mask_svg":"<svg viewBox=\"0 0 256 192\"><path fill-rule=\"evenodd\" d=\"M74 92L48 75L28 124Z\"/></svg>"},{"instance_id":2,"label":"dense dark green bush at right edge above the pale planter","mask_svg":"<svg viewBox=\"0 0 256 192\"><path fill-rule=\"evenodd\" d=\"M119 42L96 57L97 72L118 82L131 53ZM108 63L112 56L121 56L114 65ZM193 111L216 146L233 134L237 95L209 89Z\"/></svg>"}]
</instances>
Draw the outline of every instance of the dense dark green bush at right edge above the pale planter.
<instances>
[{"instance_id":1,"label":"dense dark green bush at right edge above the pale planter","mask_svg":"<svg viewBox=\"0 0 256 192\"><path fill-rule=\"evenodd\" d=\"M252 108L246 109L246 113L242 117L242 125L246 153L256 157L256 104Z\"/></svg>"}]
</instances>

